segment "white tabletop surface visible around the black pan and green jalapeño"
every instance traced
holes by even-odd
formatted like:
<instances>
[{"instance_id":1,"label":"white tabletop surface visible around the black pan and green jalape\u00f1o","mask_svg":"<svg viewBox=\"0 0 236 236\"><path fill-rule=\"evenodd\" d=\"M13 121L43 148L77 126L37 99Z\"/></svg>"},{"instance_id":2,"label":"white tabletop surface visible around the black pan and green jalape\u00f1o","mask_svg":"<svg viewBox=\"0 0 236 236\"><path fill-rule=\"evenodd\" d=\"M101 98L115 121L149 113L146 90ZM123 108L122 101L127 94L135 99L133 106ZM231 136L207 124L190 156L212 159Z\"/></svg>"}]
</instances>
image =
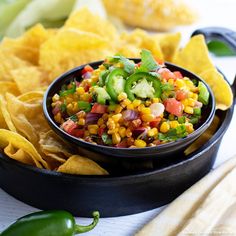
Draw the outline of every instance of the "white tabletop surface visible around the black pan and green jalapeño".
<instances>
[{"instance_id":1,"label":"white tabletop surface visible around the black pan and green jalape\u00f1o","mask_svg":"<svg viewBox=\"0 0 236 236\"><path fill-rule=\"evenodd\" d=\"M188 1L192 2L192 1ZM197 2L197 3L196 3ZM191 27L181 27L179 30L183 33L183 41L186 41L191 32L199 27L205 26L224 26L236 30L236 1L235 0L198 0L193 1L193 4L201 9L200 20ZM213 58L216 66L226 75L232 83L236 74L236 57ZM236 111L232 122L222 140L216 163L214 167L229 159L236 154ZM145 223L150 221L162 208L153 209L140 214L103 218L100 219L97 227L84 235L103 235L103 236L129 236L134 235ZM28 213L37 211L29 205L24 204L5 193L0 188L0 232L17 218ZM89 224L91 219L76 218L77 223ZM158 233L161 235L161 232Z\"/></svg>"}]
</instances>

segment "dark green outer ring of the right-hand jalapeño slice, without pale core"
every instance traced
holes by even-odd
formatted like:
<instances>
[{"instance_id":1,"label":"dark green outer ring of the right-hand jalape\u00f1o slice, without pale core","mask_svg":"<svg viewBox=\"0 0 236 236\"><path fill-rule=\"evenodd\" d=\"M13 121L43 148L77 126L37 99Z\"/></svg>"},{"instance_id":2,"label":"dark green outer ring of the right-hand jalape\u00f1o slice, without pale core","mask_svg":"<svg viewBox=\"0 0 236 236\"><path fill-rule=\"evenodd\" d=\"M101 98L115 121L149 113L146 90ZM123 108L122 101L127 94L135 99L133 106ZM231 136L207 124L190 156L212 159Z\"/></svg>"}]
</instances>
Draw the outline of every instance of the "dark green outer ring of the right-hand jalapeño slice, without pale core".
<instances>
[{"instance_id":1,"label":"dark green outer ring of the right-hand jalape\u00f1o slice, without pale core","mask_svg":"<svg viewBox=\"0 0 236 236\"><path fill-rule=\"evenodd\" d=\"M139 81L146 81L148 82L147 88L142 86L142 92L146 90L146 93L148 93L148 90L150 90L150 84L152 85L151 95L152 97L159 98L161 96L161 81L157 76L154 76L148 72L136 72L135 74L132 74L127 80L125 84L125 92L128 96L128 98L133 101L135 99L135 94L132 91L133 86L137 86ZM145 83L143 83L145 85ZM150 93L149 93L150 94ZM138 94L136 94L138 96ZM145 94L144 94L145 95ZM144 96L143 95L143 96ZM141 98L146 98L140 96ZM138 96L139 97L139 96Z\"/></svg>"}]
</instances>

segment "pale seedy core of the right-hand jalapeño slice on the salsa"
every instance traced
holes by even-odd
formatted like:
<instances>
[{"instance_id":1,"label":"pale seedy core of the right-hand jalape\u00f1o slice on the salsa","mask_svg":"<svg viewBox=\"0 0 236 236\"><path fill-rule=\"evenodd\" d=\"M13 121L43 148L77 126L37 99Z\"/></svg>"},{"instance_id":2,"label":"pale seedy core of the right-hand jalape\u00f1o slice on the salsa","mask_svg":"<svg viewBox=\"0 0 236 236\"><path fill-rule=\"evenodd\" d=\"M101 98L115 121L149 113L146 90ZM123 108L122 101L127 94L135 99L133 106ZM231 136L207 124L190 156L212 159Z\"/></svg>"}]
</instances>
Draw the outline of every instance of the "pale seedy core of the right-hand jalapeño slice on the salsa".
<instances>
[{"instance_id":1,"label":"pale seedy core of the right-hand jalape\u00f1o slice on the salsa","mask_svg":"<svg viewBox=\"0 0 236 236\"><path fill-rule=\"evenodd\" d=\"M153 98L155 89L152 86L152 82L148 82L145 78L141 79L135 86L132 88L131 92L140 98Z\"/></svg>"}]
</instances>

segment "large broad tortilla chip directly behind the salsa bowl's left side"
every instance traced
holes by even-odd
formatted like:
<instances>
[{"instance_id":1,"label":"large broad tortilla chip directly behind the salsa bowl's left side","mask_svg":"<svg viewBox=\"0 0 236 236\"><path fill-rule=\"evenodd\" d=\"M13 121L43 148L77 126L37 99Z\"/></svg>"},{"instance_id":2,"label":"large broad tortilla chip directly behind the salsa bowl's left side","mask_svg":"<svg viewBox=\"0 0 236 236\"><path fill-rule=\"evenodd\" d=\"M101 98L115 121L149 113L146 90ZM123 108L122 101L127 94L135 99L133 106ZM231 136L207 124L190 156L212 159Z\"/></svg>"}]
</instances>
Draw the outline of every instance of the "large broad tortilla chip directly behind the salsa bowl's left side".
<instances>
[{"instance_id":1,"label":"large broad tortilla chip directly behind the salsa bowl's left side","mask_svg":"<svg viewBox=\"0 0 236 236\"><path fill-rule=\"evenodd\" d=\"M94 33L63 29L41 46L40 65L53 80L76 66L104 59L111 54L108 44Z\"/></svg>"}]
</instances>

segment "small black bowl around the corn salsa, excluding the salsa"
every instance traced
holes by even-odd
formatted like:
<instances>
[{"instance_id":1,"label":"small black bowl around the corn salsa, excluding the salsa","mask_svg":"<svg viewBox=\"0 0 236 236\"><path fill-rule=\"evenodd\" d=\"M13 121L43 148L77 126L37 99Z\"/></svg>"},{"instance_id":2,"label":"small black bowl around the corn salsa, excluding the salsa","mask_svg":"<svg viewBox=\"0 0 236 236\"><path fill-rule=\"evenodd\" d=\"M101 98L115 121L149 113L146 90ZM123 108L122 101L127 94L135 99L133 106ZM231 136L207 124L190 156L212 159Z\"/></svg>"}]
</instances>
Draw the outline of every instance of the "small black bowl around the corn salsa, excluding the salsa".
<instances>
[{"instance_id":1,"label":"small black bowl around the corn salsa, excluding the salsa","mask_svg":"<svg viewBox=\"0 0 236 236\"><path fill-rule=\"evenodd\" d=\"M135 62L139 62L140 59L132 59ZM102 64L103 61L93 62L90 63L93 68L97 68L99 65ZM65 74L61 75L59 78L57 78L47 89L45 96L44 96L44 102L43 102L43 110L45 117L51 126L51 128L61 137L63 137L65 140L69 141L70 143L73 143L74 146L78 146L86 152L86 150L90 151L90 154L99 156L99 154L103 155L103 159L113 159L115 158L117 160L117 157L119 159L126 159L129 161L132 160L144 160L147 158L162 158L167 156L173 156L176 155L178 152L181 152L184 150L189 144L191 144L195 139L197 139L211 124L214 114L215 114L215 99L213 96L213 93L209 86L201 80L197 75L170 63L165 63L166 67L170 69L171 71L180 71L183 76L189 77L190 79L195 79L197 81L202 81L206 87L208 88L208 91L210 93L210 99L209 104L207 107L203 109L203 119L201 123L199 124L198 128L191 134L189 134L187 137L178 139L175 142L170 142L166 144L162 144L159 146L154 147L146 147L146 148L115 148L110 146L103 146L103 145L96 145L89 142L86 142L82 139L78 139L72 135L69 135L65 131L63 131L54 121L52 109L51 109L51 103L52 103L52 97L55 93L58 93L61 89L61 86L64 84L68 84L72 79L74 78L81 78L81 70L84 68L84 65L79 66L75 69L72 69ZM106 158L107 157L107 158ZM101 159L101 158L100 158Z\"/></svg>"}]
</instances>

